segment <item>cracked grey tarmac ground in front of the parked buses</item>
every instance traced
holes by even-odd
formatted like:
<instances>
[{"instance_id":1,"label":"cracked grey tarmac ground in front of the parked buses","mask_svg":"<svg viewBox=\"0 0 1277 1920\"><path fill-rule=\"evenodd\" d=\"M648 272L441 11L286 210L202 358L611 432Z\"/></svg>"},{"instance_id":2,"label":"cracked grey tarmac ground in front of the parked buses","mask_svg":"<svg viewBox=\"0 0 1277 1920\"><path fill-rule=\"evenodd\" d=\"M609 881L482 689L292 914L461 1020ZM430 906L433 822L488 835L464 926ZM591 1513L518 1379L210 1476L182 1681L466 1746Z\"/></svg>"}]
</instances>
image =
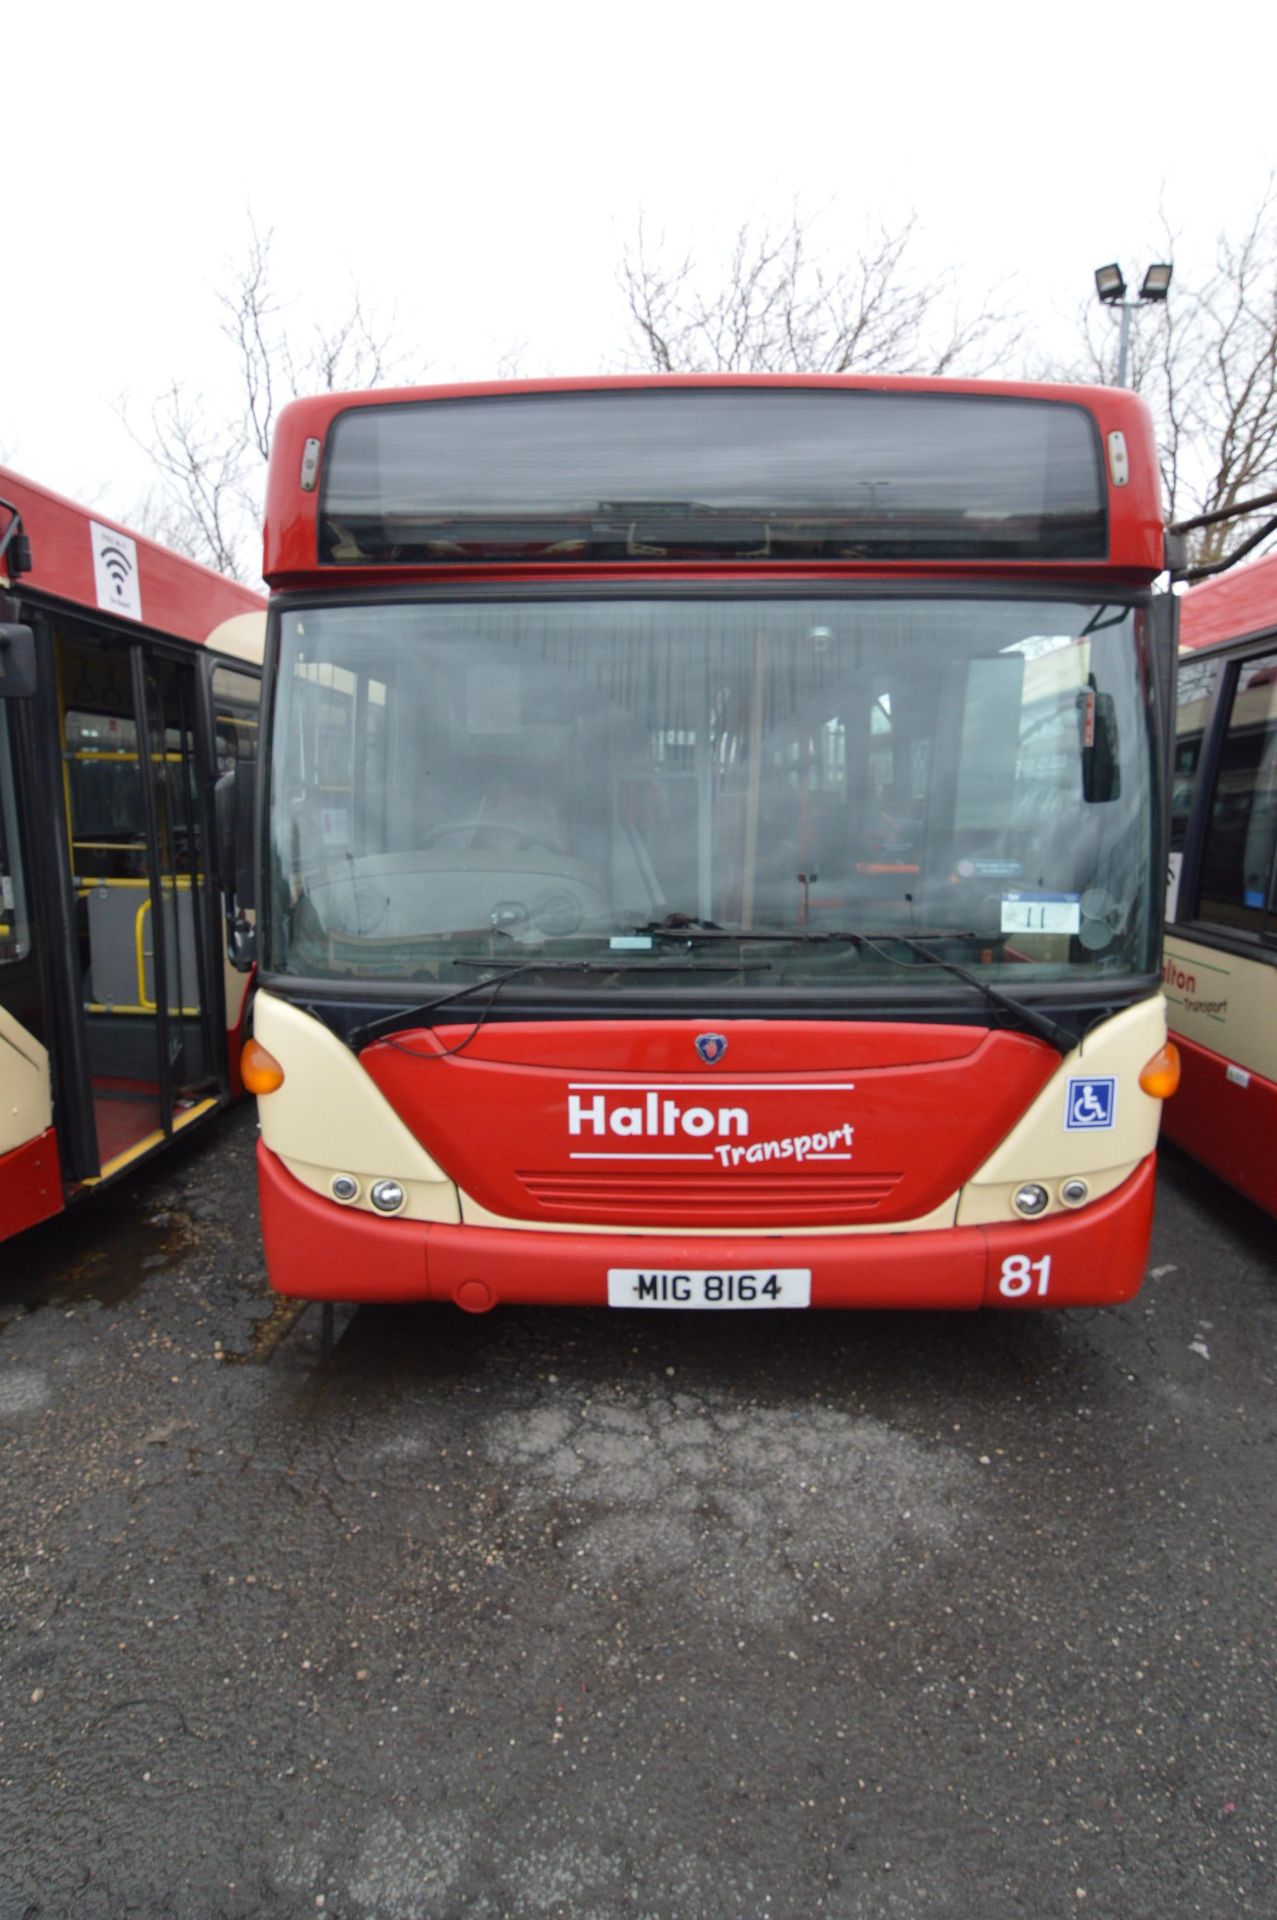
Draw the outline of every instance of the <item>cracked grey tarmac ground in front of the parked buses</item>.
<instances>
[{"instance_id":1,"label":"cracked grey tarmac ground in front of the parked buses","mask_svg":"<svg viewBox=\"0 0 1277 1920\"><path fill-rule=\"evenodd\" d=\"M273 1308L253 1116L0 1248L0 1920L1277 1912L1277 1231L1110 1311Z\"/></svg>"}]
</instances>

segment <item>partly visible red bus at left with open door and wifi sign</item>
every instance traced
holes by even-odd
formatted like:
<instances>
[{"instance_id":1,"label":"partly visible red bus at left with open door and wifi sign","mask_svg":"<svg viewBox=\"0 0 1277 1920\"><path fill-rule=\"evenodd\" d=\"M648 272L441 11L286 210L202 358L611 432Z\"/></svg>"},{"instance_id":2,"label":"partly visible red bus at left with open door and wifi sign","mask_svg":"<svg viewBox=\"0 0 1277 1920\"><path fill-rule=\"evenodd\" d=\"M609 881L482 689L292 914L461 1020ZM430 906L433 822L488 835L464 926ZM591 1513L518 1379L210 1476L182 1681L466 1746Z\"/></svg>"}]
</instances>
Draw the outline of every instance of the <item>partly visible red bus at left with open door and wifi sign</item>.
<instances>
[{"instance_id":1,"label":"partly visible red bus at left with open door and wifi sign","mask_svg":"<svg viewBox=\"0 0 1277 1920\"><path fill-rule=\"evenodd\" d=\"M0 470L0 1238L238 1091L205 849L255 755L263 611Z\"/></svg>"}]
</instances>

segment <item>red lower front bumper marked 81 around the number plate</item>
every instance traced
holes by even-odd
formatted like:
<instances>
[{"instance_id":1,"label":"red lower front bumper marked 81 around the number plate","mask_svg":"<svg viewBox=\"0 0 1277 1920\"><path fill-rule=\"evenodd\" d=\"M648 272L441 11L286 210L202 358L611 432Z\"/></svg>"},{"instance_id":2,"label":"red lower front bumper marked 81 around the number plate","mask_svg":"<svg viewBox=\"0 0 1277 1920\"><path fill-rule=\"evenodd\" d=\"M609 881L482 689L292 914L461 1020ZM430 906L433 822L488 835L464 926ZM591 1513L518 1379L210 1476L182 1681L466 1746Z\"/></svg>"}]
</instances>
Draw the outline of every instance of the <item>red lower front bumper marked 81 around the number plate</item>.
<instances>
[{"instance_id":1,"label":"red lower front bumper marked 81 around the number plate","mask_svg":"<svg viewBox=\"0 0 1277 1920\"><path fill-rule=\"evenodd\" d=\"M271 1286L300 1300L451 1300L607 1306L609 1267L757 1271L810 1267L816 1308L1112 1306L1139 1292L1152 1227L1154 1160L1104 1200L1037 1223L935 1233L680 1235L536 1233L376 1219L301 1187L257 1144ZM1050 1258L1047 1298L1006 1300L1010 1256Z\"/></svg>"}]
</instances>

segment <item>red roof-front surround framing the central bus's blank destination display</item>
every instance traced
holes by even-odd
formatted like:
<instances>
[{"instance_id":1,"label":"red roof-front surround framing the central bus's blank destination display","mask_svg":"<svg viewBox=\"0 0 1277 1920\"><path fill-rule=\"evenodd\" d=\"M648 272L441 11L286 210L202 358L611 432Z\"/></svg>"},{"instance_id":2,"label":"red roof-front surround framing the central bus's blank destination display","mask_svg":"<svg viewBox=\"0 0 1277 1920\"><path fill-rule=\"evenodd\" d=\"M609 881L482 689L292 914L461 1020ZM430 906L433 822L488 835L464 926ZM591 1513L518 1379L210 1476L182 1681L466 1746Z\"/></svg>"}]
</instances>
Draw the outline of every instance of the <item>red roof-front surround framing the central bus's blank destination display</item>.
<instances>
[{"instance_id":1,"label":"red roof-front surround framing the central bus's blank destination display","mask_svg":"<svg viewBox=\"0 0 1277 1920\"><path fill-rule=\"evenodd\" d=\"M1158 490L1158 461L1148 409L1135 396L1121 388L1108 386L1045 386L1029 382L981 382L981 380L924 380L887 378L855 374L628 374L624 378L586 378L586 380L501 380L478 386L432 386L432 388L384 388L376 394L321 394L315 399L294 399L282 409L275 422L275 445L271 449L271 474L267 482L265 516L265 557L263 574L273 588L332 586L340 580L342 591L361 586L392 586L394 582L444 582L449 578L515 580L545 578L557 582L607 580L607 578L651 578L651 566L624 566L586 563L566 566L559 563L528 563L524 566L480 563L472 566L321 566L319 564L319 501L323 495L323 467L319 486L301 492L301 453L307 440L325 442L332 420L349 407L394 407L405 401L426 399L474 399L488 394L582 394L591 390L622 388L707 388L707 386L789 386L789 388L830 388L858 390L868 394L1004 394L1020 399L1054 399L1085 407L1100 430L1104 442L1108 434L1121 432L1129 449L1129 484L1108 488L1110 549L1106 561L1079 561L1070 564L1047 564L1041 561L997 561L997 563L920 563L883 564L855 561L783 563L753 561L747 566L680 563L661 566L663 580L705 578L745 572L751 580L830 580L853 574L876 574L881 578L933 578L939 574L962 574L964 578L1018 580L1018 578L1060 578L1070 580L1133 580L1148 582L1164 568L1164 524L1162 499ZM323 453L321 453L323 463Z\"/></svg>"}]
</instances>

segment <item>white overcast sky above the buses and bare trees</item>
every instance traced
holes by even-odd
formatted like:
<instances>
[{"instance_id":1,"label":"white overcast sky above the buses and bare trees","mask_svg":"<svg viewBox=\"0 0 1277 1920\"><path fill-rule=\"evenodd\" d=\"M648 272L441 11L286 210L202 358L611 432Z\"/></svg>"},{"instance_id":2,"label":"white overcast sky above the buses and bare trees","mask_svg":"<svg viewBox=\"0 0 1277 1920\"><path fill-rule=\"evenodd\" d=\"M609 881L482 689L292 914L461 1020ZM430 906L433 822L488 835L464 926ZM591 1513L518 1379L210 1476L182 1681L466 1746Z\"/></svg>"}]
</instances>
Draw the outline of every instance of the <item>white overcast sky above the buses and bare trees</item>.
<instances>
[{"instance_id":1,"label":"white overcast sky above the buses and bare trees","mask_svg":"<svg viewBox=\"0 0 1277 1920\"><path fill-rule=\"evenodd\" d=\"M1210 265L1277 165L1277 15L1200 6L67 6L6 46L0 461L129 516L173 380L225 407L250 209L290 319L351 286L422 376L624 365L639 213L712 257L918 215L918 271L1070 349L1108 259ZM1267 25L1264 25L1267 21Z\"/></svg>"}]
</instances>

